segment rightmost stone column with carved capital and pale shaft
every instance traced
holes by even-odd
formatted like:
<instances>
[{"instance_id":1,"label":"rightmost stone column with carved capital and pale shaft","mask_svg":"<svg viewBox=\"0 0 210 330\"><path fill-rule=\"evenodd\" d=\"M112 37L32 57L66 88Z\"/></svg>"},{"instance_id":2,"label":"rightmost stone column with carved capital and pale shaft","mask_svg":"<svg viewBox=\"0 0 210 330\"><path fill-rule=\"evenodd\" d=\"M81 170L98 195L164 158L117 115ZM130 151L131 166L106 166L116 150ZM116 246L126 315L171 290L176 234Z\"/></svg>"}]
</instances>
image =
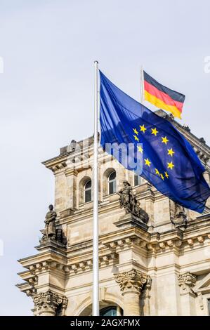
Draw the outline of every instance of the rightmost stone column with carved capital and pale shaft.
<instances>
[{"instance_id":1,"label":"rightmost stone column with carved capital and pale shaft","mask_svg":"<svg viewBox=\"0 0 210 330\"><path fill-rule=\"evenodd\" d=\"M190 272L178 275L178 285L181 288L181 310L184 316L195 316L195 293L192 290L195 282L196 276Z\"/></svg>"}]
</instances>

